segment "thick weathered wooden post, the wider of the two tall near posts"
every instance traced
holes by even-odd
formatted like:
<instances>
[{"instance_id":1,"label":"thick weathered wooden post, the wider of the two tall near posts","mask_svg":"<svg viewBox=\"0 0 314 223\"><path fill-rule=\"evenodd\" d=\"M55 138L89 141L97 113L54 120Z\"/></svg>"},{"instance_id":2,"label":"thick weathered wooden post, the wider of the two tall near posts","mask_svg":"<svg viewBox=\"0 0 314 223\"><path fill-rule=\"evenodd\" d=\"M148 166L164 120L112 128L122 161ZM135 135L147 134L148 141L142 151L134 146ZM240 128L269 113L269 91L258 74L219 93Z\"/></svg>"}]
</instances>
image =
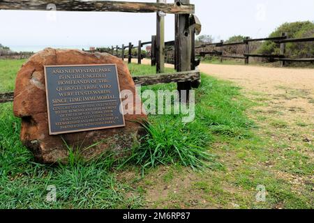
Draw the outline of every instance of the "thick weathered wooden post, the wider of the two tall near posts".
<instances>
[{"instance_id":1,"label":"thick weathered wooden post, the wider of the two tall near posts","mask_svg":"<svg viewBox=\"0 0 314 223\"><path fill-rule=\"evenodd\" d=\"M175 0L177 4L190 3L190 0ZM178 72L191 70L192 41L189 25L189 14L175 15L175 56ZM192 88L191 82L178 82L180 101L188 101L189 91ZM181 91L186 90L186 98L182 98Z\"/></svg>"}]
</instances>

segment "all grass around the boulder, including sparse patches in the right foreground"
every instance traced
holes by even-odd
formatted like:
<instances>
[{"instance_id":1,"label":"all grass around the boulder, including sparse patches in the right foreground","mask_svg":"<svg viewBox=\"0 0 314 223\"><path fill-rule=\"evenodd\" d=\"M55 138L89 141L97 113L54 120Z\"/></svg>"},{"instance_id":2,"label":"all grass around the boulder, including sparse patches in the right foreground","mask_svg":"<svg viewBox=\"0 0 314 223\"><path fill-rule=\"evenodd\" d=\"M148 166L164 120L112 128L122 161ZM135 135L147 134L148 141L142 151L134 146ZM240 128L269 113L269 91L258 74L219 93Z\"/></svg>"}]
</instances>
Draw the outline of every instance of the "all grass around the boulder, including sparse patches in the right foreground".
<instances>
[{"instance_id":1,"label":"all grass around the boulder, including sparse patches in the right foreground","mask_svg":"<svg viewBox=\"0 0 314 223\"><path fill-rule=\"evenodd\" d=\"M23 62L0 61L1 74L9 77L0 84L3 91L13 90L14 70ZM155 72L151 66L129 68L133 75ZM174 90L176 84L145 89ZM239 87L202 75L195 93L195 121L184 124L181 116L149 116L146 140L118 163L110 156L92 162L73 156L68 165L36 164L20 142L20 119L13 116L12 103L0 104L0 208L313 208L313 182L306 181L306 189L296 192L289 179L276 172L311 176L313 162L304 152L290 150L290 142L257 137L260 127L246 116L248 107L256 104L241 95ZM268 121L267 128L291 130L289 123L267 117L260 116ZM305 123L300 119L294 125L301 128ZM313 144L306 149L313 151ZM135 177L128 177L130 172ZM124 175L127 180L121 180ZM188 178L190 183L184 183ZM55 203L46 201L48 185L57 187ZM160 188L175 185L176 192L170 190L167 197L147 204L151 188L160 194ZM267 202L255 202L257 185L265 185Z\"/></svg>"}]
</instances>

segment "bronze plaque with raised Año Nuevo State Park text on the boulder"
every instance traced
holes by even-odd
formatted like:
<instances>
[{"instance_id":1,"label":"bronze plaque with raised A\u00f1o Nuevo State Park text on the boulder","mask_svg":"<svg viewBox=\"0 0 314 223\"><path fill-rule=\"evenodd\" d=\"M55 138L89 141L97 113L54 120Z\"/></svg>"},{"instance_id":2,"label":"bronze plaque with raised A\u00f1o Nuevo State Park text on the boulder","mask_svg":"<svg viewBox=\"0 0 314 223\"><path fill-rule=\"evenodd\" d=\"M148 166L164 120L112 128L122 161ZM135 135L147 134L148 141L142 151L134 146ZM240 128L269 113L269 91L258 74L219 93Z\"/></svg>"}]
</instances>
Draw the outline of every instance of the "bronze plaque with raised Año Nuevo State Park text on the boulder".
<instances>
[{"instance_id":1,"label":"bronze plaque with raised A\u00f1o Nuevo State Park text on the boulder","mask_svg":"<svg viewBox=\"0 0 314 223\"><path fill-rule=\"evenodd\" d=\"M117 65L45 66L45 85L50 134L125 126Z\"/></svg>"}]
</instances>

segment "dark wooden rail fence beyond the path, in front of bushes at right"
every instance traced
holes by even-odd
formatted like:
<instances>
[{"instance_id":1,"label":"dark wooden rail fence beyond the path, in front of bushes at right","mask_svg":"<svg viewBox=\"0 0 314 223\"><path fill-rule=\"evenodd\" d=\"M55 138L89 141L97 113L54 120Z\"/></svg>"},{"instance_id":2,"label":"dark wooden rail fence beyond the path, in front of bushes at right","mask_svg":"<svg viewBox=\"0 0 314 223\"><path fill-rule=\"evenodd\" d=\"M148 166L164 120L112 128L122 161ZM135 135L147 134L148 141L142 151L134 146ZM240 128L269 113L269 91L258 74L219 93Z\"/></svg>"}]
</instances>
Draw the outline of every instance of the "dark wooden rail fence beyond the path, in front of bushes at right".
<instances>
[{"instance_id":1,"label":"dark wooden rail fence beyond the path, in front of bushes at right","mask_svg":"<svg viewBox=\"0 0 314 223\"><path fill-rule=\"evenodd\" d=\"M253 42L260 42L260 41L271 41L274 43L277 43L280 45L281 52L280 54L252 54L250 53L250 43ZM300 59L291 59L287 58L285 56L285 45L286 43L302 43L302 42L313 42L314 37L310 38L287 38L287 33L283 33L282 36L278 37L271 37L271 38L256 38L256 39L250 39L246 38L245 40L237 43L223 43L223 40L221 40L219 43L208 43L204 45L200 45L198 47L195 47L196 49L203 49L208 46L214 46L219 47L220 50L214 50L214 51L202 51L197 56L204 57L206 55L212 55L212 56L219 56L220 62L223 62L224 58L232 58L232 59L244 59L244 63L249 63L250 57L260 57L260 58L267 58L271 59L271 61L281 61L281 66L285 66L286 61L290 62L314 62L314 58L300 58ZM245 45L245 53L242 55L226 55L224 54L224 47L227 46L234 46L234 45Z\"/></svg>"}]
</instances>

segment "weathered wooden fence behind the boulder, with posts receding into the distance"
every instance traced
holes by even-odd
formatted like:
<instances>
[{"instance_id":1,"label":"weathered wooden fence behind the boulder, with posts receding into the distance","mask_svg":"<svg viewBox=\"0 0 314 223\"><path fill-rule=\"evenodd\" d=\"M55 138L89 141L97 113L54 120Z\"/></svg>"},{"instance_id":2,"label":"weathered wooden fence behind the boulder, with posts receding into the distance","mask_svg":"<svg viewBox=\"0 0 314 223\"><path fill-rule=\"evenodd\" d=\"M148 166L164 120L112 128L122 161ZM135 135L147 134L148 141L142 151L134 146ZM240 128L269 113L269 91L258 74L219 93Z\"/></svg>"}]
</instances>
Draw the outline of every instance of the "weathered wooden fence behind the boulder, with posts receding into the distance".
<instances>
[{"instance_id":1,"label":"weathered wooden fence behind the boulder, with posts receding into the distance","mask_svg":"<svg viewBox=\"0 0 314 223\"><path fill-rule=\"evenodd\" d=\"M0 10L50 10L50 0L3 0L0 1ZM175 67L177 72L173 74L150 75L147 77L135 77L135 84L163 84L175 82L177 89L189 91L192 87L197 87L200 83L200 72L195 71L195 33L200 33L200 24L195 26L195 21L199 22L195 15L195 6L190 4L190 0L174 0L174 3L165 3L165 0L157 0L156 3L146 2L128 2L128 1L55 1L54 5L59 11L93 11L93 12L124 12L124 13L156 13L156 36L151 43L155 44L154 56L156 56L156 69L158 73L165 70L165 13L175 15ZM192 20L191 18L194 18ZM153 38L152 38L153 39ZM141 63L141 49L143 45L151 44L139 41L137 45L137 59ZM124 51L128 49L128 61L132 59L132 49L135 48L132 43L128 46L122 45L112 47L111 53L118 55L121 49L121 57L124 59ZM92 51L94 52L94 51ZM153 61L153 60L152 60ZM188 94L187 94L188 96ZM180 95L181 98L181 95ZM13 100L13 93L0 93L0 102Z\"/></svg>"}]
</instances>

